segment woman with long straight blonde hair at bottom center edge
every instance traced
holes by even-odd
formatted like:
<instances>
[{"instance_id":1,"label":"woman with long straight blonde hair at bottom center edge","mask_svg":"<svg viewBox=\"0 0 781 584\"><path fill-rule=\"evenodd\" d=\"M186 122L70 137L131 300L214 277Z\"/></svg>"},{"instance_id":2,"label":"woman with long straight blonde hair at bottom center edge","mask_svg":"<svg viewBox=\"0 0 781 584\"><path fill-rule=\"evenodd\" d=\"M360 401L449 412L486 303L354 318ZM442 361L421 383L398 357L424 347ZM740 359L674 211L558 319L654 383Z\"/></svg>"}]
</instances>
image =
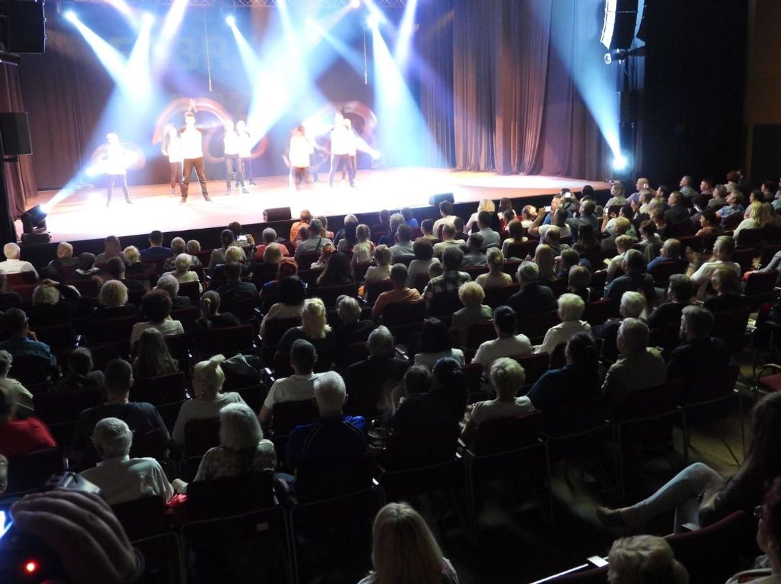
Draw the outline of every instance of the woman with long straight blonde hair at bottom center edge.
<instances>
[{"instance_id":1,"label":"woman with long straight blonde hair at bottom center edge","mask_svg":"<svg viewBox=\"0 0 781 584\"><path fill-rule=\"evenodd\" d=\"M372 564L358 584L458 584L429 526L406 503L389 503L374 518Z\"/></svg>"}]
</instances>

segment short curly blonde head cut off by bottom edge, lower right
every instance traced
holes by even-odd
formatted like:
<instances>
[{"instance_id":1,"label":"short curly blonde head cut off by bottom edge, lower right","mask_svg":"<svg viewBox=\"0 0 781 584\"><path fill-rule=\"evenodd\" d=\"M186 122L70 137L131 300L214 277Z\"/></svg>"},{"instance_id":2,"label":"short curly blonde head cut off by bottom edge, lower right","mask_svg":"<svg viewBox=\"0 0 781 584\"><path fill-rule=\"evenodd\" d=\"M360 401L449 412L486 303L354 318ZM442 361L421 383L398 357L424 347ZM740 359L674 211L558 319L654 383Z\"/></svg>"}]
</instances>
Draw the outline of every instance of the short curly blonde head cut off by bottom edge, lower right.
<instances>
[{"instance_id":1,"label":"short curly blonde head cut off by bottom edge, lower right","mask_svg":"<svg viewBox=\"0 0 781 584\"><path fill-rule=\"evenodd\" d=\"M689 573L662 537L616 539L608 553L611 584L689 584Z\"/></svg>"}]
</instances>

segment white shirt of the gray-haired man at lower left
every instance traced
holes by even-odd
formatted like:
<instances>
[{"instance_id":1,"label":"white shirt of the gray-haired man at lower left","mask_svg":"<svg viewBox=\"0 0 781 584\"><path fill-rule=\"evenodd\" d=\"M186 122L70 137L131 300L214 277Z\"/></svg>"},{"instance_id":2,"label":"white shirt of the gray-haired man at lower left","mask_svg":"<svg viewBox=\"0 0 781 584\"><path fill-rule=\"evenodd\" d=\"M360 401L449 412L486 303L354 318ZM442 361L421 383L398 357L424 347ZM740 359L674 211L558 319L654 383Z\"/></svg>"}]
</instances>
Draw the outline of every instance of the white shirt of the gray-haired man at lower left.
<instances>
[{"instance_id":1,"label":"white shirt of the gray-haired man at lower left","mask_svg":"<svg viewBox=\"0 0 781 584\"><path fill-rule=\"evenodd\" d=\"M103 499L109 505L151 495L167 501L173 496L173 487L154 458L130 458L127 455L107 458L98 462L98 466L79 474L100 487Z\"/></svg>"}]
</instances>

